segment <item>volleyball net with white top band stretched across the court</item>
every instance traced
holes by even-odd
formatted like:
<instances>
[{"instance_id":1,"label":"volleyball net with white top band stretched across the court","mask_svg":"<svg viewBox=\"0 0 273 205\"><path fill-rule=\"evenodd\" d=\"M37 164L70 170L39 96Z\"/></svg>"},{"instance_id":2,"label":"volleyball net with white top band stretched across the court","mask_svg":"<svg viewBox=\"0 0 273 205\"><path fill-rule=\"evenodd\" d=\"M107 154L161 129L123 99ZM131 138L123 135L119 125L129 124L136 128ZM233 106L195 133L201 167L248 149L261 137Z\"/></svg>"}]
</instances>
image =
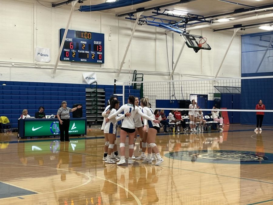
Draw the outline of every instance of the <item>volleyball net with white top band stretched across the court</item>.
<instances>
[{"instance_id":1,"label":"volleyball net with white top band stretched across the court","mask_svg":"<svg viewBox=\"0 0 273 205\"><path fill-rule=\"evenodd\" d=\"M126 96L136 93L148 97L152 109L165 110L165 114L180 110L187 115L195 100L204 115L215 107L226 112L230 123L249 125L256 124L255 107L262 100L266 108L263 125L273 125L273 76L124 82L123 104Z\"/></svg>"}]
</instances>

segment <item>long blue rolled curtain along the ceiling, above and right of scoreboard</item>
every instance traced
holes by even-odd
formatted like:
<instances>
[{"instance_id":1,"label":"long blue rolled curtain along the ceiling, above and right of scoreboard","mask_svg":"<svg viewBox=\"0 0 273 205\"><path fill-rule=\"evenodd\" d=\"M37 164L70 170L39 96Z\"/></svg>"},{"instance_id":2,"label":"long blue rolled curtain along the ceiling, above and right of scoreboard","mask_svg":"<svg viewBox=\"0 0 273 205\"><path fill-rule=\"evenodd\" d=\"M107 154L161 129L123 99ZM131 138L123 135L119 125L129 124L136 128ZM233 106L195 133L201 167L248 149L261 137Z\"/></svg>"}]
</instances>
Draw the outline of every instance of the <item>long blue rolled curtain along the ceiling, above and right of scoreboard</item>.
<instances>
[{"instance_id":1,"label":"long blue rolled curtain along the ceiling, above and right of scoreboard","mask_svg":"<svg viewBox=\"0 0 273 205\"><path fill-rule=\"evenodd\" d=\"M92 11L102 11L107 9L115 9L124 6L131 6L135 4L140 4L144 2L149 2L151 0L118 0L111 3L102 3L90 6L80 6L79 11L81 12L92 12Z\"/></svg>"}]
</instances>

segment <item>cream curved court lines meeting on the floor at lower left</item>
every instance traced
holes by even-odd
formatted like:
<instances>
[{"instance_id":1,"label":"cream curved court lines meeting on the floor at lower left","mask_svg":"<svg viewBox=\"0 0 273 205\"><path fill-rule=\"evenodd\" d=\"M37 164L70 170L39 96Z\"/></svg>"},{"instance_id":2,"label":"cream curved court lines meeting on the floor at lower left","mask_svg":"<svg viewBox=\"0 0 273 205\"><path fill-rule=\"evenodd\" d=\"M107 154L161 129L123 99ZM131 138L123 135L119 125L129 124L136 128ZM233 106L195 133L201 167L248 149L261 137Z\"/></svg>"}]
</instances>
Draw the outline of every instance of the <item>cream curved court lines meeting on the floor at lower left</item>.
<instances>
[{"instance_id":1,"label":"cream curved court lines meeting on the floor at lower left","mask_svg":"<svg viewBox=\"0 0 273 205\"><path fill-rule=\"evenodd\" d=\"M18 164L18 163L10 163L10 162L0 162L0 163L2 163L2 164L22 165L22 164ZM42 169L42 168L44 168L44 169L58 169L58 170L68 171L68 170L66 170L66 169L59 169L59 168L55 168L55 167L47 167L47 166L39 166L39 165L27 165L27 166L35 166L36 169ZM42 167L42 168L38 168L38 167ZM14 167L13 167L13 168L14 168ZM18 167L18 168L22 169L22 167ZM26 168L26 167L25 167L25 168ZM32 169L33 167L27 167L27 168ZM46 193L30 194L30 195L25 195L25 196L49 194L49 193L56 193L56 192L62 192L62 191L70 190L70 189L75 189L75 188L78 188L78 187L80 187L80 186L84 186L84 185L90 183L90 182L91 182L91 177L96 177L96 178L98 178L98 179L102 179L102 180L108 181L108 182L110 182L110 183L113 183L113 184L115 184L116 186L119 186L120 188L124 189L125 191L127 191L128 193L130 193L130 194L134 197L134 199L136 200L136 203L137 203L138 205L141 205L141 202L140 202L140 200L137 198L137 196L134 195L129 189L126 189L126 187L124 187L124 186L122 186L122 185L120 185L120 184L117 184L117 183L115 183L115 182L112 182L112 181L110 181L110 180L108 180L108 179L104 179L104 178L99 177L99 176L87 175L87 174L85 174L85 173L76 172L76 171L72 171L72 170L69 170L69 172L75 172L75 173L79 173L79 174L85 175L85 176L88 177L88 180L87 180L85 183L81 184L81 185L74 186L74 187L71 187L71 188L67 188L67 189L64 189L64 190L58 190L58 191L52 191L52 192L46 192ZM25 189L25 188L23 188L23 189ZM20 196L20 197L22 197L22 196ZM13 197L8 197L8 198L18 198L18 196L13 196ZM7 198L2 198L2 199L7 199ZM0 200L1 200L1 199L0 199Z\"/></svg>"}]
</instances>

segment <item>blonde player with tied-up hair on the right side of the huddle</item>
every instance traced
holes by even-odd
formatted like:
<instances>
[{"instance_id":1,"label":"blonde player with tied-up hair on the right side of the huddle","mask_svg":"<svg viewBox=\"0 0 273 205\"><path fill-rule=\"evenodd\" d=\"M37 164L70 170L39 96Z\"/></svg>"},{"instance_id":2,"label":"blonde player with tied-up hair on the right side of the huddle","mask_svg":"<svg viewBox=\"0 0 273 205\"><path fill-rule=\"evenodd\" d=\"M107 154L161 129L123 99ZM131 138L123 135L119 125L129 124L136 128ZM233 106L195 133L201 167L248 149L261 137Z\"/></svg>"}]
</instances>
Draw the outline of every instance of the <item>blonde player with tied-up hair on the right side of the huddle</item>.
<instances>
[{"instance_id":1,"label":"blonde player with tied-up hair on the right side of the huddle","mask_svg":"<svg viewBox=\"0 0 273 205\"><path fill-rule=\"evenodd\" d=\"M147 97L140 99L140 105L143 107L142 112L144 114L147 114L150 118L155 118L153 111L151 108L148 108L147 105L149 105L149 101ZM155 138L157 135L157 131L159 131L159 123L154 123L150 121L147 118L143 119L144 127L143 131L146 132L148 129L148 135L147 135L147 147L148 147L148 154L147 158L143 161L143 163L152 163L152 150L154 151L156 155L156 163L155 165L160 165L164 160L161 158L159 150L157 148L157 145L155 144Z\"/></svg>"}]
</instances>

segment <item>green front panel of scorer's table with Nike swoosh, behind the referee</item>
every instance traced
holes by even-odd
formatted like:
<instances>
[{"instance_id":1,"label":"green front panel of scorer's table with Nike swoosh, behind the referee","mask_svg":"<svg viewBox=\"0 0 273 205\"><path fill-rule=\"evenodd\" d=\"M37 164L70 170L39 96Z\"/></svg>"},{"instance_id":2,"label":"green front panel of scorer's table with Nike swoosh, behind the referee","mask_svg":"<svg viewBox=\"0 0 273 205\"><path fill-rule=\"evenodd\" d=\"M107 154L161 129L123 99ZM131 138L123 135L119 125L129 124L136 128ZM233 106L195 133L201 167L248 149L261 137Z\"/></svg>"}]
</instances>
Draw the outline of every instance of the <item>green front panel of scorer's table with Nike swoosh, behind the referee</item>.
<instances>
[{"instance_id":1,"label":"green front panel of scorer's table with Nike swoosh, behind the referee","mask_svg":"<svg viewBox=\"0 0 273 205\"><path fill-rule=\"evenodd\" d=\"M84 135L85 120L70 120L69 134ZM59 121L25 121L25 136L60 135Z\"/></svg>"}]
</instances>

